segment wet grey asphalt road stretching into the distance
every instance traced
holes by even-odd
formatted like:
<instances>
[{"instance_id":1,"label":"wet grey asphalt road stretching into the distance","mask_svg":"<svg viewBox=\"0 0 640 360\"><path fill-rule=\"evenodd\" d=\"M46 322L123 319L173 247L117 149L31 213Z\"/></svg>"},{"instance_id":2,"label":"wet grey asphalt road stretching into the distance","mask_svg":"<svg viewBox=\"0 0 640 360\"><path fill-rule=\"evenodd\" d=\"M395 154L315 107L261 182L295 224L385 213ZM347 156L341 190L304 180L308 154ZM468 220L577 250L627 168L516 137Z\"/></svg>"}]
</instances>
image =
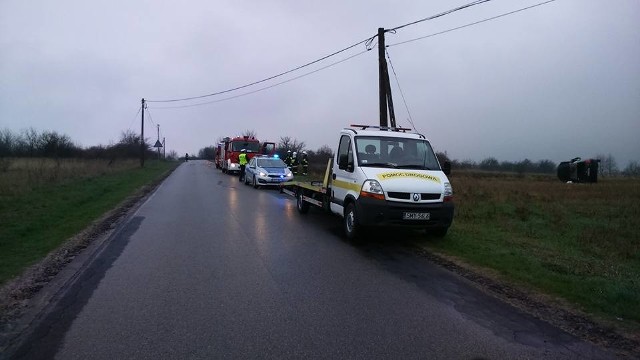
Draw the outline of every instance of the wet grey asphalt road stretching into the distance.
<instances>
[{"instance_id":1,"label":"wet grey asphalt road stretching into the distance","mask_svg":"<svg viewBox=\"0 0 640 360\"><path fill-rule=\"evenodd\" d=\"M337 217L184 163L15 357L613 358L415 255L412 236L356 246Z\"/></svg>"}]
</instances>

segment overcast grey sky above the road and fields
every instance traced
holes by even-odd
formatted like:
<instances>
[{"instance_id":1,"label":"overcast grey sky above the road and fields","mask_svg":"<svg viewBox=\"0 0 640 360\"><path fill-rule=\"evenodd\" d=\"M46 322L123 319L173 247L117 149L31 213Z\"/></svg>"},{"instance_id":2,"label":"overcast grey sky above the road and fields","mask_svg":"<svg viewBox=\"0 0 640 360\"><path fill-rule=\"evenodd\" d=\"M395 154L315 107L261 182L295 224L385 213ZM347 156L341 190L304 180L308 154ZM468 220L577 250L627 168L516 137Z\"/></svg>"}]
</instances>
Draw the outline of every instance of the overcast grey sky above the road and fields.
<instances>
[{"instance_id":1,"label":"overcast grey sky above the road and fields","mask_svg":"<svg viewBox=\"0 0 640 360\"><path fill-rule=\"evenodd\" d=\"M0 0L0 128L34 127L81 146L140 131L141 98L210 94L287 71L463 1ZM388 45L531 6L493 0L388 33ZM308 149L353 123L378 124L377 51L359 45L257 86L148 104L145 137L197 153L253 130ZM640 1L557 0L388 48L417 130L464 160L640 160ZM397 122L410 126L391 75Z\"/></svg>"}]
</instances>

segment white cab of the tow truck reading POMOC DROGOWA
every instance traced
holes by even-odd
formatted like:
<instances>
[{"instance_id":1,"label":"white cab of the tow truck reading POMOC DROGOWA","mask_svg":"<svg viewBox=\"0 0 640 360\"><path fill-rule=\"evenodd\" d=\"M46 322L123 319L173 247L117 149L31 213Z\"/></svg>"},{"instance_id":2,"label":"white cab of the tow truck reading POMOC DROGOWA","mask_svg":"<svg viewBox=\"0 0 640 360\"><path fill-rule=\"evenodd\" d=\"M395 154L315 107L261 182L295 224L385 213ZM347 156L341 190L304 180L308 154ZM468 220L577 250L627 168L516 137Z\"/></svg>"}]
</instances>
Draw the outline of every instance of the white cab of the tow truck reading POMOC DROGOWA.
<instances>
[{"instance_id":1,"label":"white cab of the tow truck reading POMOC DROGOWA","mask_svg":"<svg viewBox=\"0 0 640 360\"><path fill-rule=\"evenodd\" d=\"M429 141L409 130L352 125L340 132L330 209L344 217L348 237L360 226L423 227L439 236L451 226L450 166L443 171Z\"/></svg>"}]
</instances>

